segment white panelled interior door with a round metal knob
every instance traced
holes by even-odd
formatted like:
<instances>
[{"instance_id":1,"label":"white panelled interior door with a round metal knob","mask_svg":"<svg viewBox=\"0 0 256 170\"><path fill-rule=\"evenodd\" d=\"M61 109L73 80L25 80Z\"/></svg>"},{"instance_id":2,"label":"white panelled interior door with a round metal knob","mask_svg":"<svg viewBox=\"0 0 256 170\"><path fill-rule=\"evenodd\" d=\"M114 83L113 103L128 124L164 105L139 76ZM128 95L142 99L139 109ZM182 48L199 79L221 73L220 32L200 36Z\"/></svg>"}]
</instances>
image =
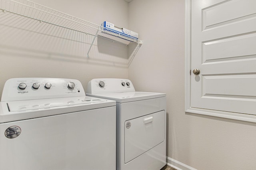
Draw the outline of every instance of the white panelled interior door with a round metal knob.
<instances>
[{"instance_id":1,"label":"white panelled interior door with a round metal knob","mask_svg":"<svg viewBox=\"0 0 256 170\"><path fill-rule=\"evenodd\" d=\"M256 0L191 1L190 83L191 108L256 115Z\"/></svg>"}]
</instances>

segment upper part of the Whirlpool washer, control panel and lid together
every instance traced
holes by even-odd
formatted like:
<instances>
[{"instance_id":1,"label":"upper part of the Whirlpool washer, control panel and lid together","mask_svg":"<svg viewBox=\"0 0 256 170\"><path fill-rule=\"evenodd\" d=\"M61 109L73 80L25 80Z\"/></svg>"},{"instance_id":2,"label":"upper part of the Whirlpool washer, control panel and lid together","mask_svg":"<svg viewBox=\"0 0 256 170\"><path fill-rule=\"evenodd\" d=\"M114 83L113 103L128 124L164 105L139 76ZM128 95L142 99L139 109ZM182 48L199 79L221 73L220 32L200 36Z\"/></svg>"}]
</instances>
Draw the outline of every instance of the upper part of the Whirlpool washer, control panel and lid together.
<instances>
[{"instance_id":1,"label":"upper part of the Whirlpool washer, control panel and lid together","mask_svg":"<svg viewBox=\"0 0 256 170\"><path fill-rule=\"evenodd\" d=\"M115 101L85 96L80 81L14 78L6 81L0 123L115 106Z\"/></svg>"}]
</instances>

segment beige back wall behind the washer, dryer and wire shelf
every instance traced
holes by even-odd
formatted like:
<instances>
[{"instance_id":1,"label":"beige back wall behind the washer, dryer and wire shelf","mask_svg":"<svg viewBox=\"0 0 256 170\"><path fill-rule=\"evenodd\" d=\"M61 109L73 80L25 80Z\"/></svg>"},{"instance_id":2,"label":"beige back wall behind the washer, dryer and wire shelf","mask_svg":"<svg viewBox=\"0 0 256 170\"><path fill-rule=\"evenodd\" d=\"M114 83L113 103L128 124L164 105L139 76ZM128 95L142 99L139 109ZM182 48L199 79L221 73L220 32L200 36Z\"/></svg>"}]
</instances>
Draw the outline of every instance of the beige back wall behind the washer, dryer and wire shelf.
<instances>
[{"instance_id":1,"label":"beige back wall behind the washer, dryer and wire shelf","mask_svg":"<svg viewBox=\"0 0 256 170\"><path fill-rule=\"evenodd\" d=\"M32 1L98 25L108 21L128 28L124 0ZM78 79L85 89L93 78L128 78L126 45L96 38L87 58L93 36L2 10L0 18L0 96L5 81L13 77Z\"/></svg>"}]
</instances>

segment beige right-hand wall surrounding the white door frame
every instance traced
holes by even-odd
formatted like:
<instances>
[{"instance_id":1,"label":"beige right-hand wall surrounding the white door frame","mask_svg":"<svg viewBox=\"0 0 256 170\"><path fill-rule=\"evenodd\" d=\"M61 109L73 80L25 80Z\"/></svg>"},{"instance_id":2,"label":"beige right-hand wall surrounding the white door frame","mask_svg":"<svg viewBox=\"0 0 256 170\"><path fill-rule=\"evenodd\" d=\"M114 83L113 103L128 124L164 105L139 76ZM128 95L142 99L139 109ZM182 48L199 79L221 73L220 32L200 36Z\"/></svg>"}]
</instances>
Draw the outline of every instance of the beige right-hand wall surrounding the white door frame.
<instances>
[{"instance_id":1,"label":"beige right-hand wall surrounding the white door frame","mask_svg":"<svg viewBox=\"0 0 256 170\"><path fill-rule=\"evenodd\" d=\"M129 67L136 91L167 93L168 163L183 170L256 169L255 123L184 111L185 0L133 0L144 43Z\"/></svg>"}]
</instances>

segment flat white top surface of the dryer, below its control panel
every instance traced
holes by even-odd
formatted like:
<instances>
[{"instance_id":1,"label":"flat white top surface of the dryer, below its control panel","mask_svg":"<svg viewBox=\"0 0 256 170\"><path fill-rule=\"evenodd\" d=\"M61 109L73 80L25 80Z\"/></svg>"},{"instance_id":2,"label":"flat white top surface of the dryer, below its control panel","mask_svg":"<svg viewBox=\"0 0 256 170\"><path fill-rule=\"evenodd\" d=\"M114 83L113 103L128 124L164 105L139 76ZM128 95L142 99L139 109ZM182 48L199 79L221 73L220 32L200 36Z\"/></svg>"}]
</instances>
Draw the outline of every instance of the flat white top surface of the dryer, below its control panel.
<instances>
[{"instance_id":1,"label":"flat white top surface of the dryer, below its control panel","mask_svg":"<svg viewBox=\"0 0 256 170\"><path fill-rule=\"evenodd\" d=\"M132 101L140 101L146 99L154 99L159 97L166 97L166 93L150 93L150 92L121 92L121 93L103 93L103 94L86 94L87 96L99 97L103 99L115 100L117 103L126 103Z\"/></svg>"}]
</instances>

